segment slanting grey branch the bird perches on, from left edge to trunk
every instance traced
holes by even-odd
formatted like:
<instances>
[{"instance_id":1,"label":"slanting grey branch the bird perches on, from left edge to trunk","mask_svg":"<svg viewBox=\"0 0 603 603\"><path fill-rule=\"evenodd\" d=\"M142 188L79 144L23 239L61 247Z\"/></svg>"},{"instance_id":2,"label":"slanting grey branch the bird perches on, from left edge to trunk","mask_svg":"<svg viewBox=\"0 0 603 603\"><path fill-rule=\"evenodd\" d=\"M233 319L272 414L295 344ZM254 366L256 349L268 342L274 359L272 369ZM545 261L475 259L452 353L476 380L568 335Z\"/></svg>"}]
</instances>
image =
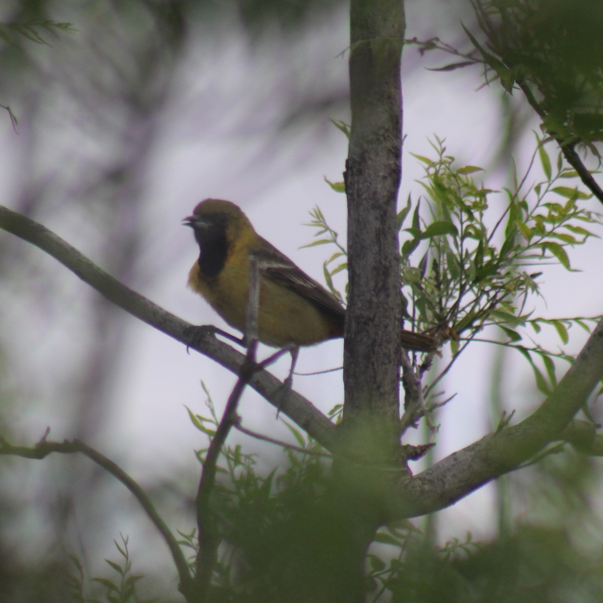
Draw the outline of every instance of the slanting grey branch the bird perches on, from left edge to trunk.
<instances>
[{"instance_id":1,"label":"slanting grey branch the bird perches on, from left edge to trunk","mask_svg":"<svg viewBox=\"0 0 603 603\"><path fill-rule=\"evenodd\" d=\"M46 251L81 280L129 314L211 358L233 373L241 374L245 356L219 341L210 329L206 329L203 336L199 336L199 329L195 329L194 325L132 291L41 224L21 213L0 206L0 229ZM295 421L314 440L327 450L332 449L336 428L308 399L292 390L283 391L282 382L266 370L257 371L251 377L249 384L275 408L280 408L281 412Z\"/></svg>"}]
</instances>

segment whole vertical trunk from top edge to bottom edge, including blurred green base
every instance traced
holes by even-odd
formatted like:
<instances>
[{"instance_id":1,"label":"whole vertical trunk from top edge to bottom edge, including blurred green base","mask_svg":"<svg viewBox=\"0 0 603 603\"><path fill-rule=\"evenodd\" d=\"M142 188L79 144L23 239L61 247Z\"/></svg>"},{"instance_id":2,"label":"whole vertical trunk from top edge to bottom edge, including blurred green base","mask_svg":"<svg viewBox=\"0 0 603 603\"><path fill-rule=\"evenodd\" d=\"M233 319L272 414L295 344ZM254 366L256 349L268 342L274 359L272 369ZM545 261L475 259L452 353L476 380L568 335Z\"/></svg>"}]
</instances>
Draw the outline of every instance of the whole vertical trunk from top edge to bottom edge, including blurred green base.
<instances>
[{"instance_id":1,"label":"whole vertical trunk from top edge to bottom edge, including blurred green base","mask_svg":"<svg viewBox=\"0 0 603 603\"><path fill-rule=\"evenodd\" d=\"M352 0L352 130L345 174L350 282L344 341L346 397L342 453L333 465L330 498L339 514L339 569L332 573L338 586L336 601L364 601L367 549L384 520L384 501L393 491L393 481L400 479L391 467L399 449L396 213L404 32L402 0Z\"/></svg>"}]
</instances>

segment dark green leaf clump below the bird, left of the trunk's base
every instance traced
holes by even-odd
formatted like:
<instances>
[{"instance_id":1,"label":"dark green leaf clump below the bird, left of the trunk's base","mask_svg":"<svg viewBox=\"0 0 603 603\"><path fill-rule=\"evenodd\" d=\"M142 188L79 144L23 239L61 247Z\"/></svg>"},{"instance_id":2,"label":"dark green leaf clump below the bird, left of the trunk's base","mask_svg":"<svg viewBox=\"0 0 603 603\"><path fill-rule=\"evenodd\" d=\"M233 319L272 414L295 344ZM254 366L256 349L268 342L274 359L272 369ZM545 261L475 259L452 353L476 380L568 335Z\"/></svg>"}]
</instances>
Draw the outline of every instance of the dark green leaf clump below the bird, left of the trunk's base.
<instances>
[{"instance_id":1,"label":"dark green leaf clump below the bird, left of the trunk's base","mask_svg":"<svg viewBox=\"0 0 603 603\"><path fill-rule=\"evenodd\" d=\"M218 418L209 393L206 405L209 415L192 411L189 415L195 427L212 437ZM295 426L286 425L299 447L309 453L320 449ZM198 452L201 463L206 452ZM286 582L291 559L301 558L291 548L306 541L309 518L323 499L327 467L319 456L289 448L283 449L280 465L285 469L262 475L255 455L244 453L239 444L223 447L218 467L221 479L212 493L212 516L222 546L213 569L210 600L229 601L235 592L240 597L236 600L274 600L275 589L284 588L279 582ZM181 535L181 544L196 554L195 532Z\"/></svg>"}]
</instances>

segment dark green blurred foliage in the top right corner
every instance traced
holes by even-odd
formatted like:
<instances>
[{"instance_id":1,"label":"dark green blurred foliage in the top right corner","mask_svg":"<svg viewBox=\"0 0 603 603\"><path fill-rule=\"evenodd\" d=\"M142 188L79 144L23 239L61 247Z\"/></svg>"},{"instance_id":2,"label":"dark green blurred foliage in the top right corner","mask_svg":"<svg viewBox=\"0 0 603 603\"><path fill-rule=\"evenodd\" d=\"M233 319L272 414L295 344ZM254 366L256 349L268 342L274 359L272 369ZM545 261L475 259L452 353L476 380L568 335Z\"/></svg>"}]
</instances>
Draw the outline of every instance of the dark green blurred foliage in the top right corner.
<instances>
[{"instance_id":1,"label":"dark green blurred foliage in the top right corner","mask_svg":"<svg viewBox=\"0 0 603 603\"><path fill-rule=\"evenodd\" d=\"M470 35L508 92L528 86L562 144L603 140L603 5L598 0L473 2L487 42ZM469 32L468 32L469 33ZM525 90L525 89L524 89Z\"/></svg>"}]
</instances>

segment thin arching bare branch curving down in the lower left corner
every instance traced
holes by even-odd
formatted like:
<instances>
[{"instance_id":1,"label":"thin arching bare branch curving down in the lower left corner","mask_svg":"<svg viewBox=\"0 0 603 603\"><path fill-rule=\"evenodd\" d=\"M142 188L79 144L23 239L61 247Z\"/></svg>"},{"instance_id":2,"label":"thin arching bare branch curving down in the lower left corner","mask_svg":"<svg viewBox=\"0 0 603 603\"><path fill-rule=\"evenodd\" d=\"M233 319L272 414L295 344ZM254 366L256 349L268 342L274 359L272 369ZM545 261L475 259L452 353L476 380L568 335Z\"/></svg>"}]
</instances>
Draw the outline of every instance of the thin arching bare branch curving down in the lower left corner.
<instances>
[{"instance_id":1,"label":"thin arching bare branch curving down in the lower left corner","mask_svg":"<svg viewBox=\"0 0 603 603\"><path fill-rule=\"evenodd\" d=\"M60 454L80 453L84 456L87 456L99 467L103 467L104 470L110 473L114 478L118 479L122 484L125 485L126 488L128 488L128 490L130 490L134 498L136 498L140 506L144 509L151 522L153 522L153 525L162 535L163 540L166 541L166 544L171 551L172 558L174 559L176 569L178 570L178 577L180 579L178 588L180 592L185 595L187 600L189 600L189 596L191 596L192 593L193 582L191 573L189 572L188 563L186 562L186 558L183 555L180 546L178 545L178 541L163 519L159 516L159 513L157 513L153 503L151 503L151 500L147 496L147 493L137 484L136 481L134 481L134 479L125 473L125 471L121 469L118 464L114 463L112 460L98 452L98 450L90 448L90 446L87 446L87 444L84 444L79 440L49 442L46 440L48 432L49 429L46 430L46 433L43 435L42 439L36 444L36 446L33 447L13 446L4 440L4 438L0 437L0 455L43 459L53 452L58 452Z\"/></svg>"}]
</instances>

